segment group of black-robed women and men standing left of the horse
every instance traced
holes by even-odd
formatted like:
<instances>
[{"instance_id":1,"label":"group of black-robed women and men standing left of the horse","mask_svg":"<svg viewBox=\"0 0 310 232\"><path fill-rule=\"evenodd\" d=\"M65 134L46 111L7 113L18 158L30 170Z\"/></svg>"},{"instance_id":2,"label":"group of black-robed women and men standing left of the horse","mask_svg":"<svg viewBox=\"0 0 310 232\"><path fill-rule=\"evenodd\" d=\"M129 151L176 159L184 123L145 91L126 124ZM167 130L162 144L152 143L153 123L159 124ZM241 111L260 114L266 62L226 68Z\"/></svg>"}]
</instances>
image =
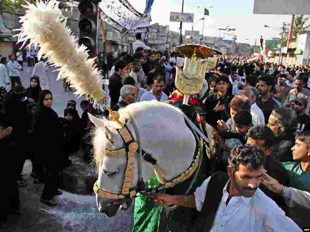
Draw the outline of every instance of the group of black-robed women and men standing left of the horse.
<instances>
[{"instance_id":1,"label":"group of black-robed women and men standing left of the horse","mask_svg":"<svg viewBox=\"0 0 310 232\"><path fill-rule=\"evenodd\" d=\"M49 90L45 60L35 63L29 87L25 88L20 81L22 66L15 61L14 54L10 54L9 59L7 62L1 57L0 64L0 144L3 151L11 153L3 158L3 162L14 165L4 165L1 169L1 180L10 188L3 194L1 228L7 227L9 215L19 214L19 188L28 184L22 176L26 159L32 162L33 182L44 183L40 200L49 206L55 206L54 196L62 194L58 189L62 170L71 165L69 156L82 150L87 164L92 159L90 138L86 136L89 132L88 101L80 104L81 118L74 100L68 101L64 117L59 117L52 109L54 98Z\"/></svg>"}]
</instances>

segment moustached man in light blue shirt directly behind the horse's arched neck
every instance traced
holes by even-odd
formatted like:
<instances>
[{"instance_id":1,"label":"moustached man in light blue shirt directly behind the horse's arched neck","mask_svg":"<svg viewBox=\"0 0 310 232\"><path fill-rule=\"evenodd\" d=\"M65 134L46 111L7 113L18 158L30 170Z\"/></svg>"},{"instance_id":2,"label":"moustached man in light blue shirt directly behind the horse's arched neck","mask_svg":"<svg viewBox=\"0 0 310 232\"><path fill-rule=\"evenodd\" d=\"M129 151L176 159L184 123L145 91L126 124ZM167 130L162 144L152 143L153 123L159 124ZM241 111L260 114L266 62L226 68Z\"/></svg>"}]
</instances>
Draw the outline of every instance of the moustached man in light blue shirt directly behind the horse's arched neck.
<instances>
[{"instance_id":1,"label":"moustached man in light blue shirt directly behind the horse's arched neck","mask_svg":"<svg viewBox=\"0 0 310 232\"><path fill-rule=\"evenodd\" d=\"M155 76L153 79L152 89L144 93L140 101L166 101L168 96L163 92L165 89L165 78L162 76Z\"/></svg>"}]
</instances>

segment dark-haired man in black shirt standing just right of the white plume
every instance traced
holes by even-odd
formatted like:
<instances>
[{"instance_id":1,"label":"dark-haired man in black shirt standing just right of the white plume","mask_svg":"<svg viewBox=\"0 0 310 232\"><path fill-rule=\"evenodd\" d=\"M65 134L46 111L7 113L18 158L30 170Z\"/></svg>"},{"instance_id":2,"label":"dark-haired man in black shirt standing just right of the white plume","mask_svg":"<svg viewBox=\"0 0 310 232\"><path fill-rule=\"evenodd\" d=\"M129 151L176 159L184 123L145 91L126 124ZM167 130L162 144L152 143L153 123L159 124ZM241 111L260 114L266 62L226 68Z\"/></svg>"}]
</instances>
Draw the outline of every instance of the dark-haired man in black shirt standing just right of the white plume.
<instances>
[{"instance_id":1,"label":"dark-haired man in black shirt standing just right of the white plume","mask_svg":"<svg viewBox=\"0 0 310 232\"><path fill-rule=\"evenodd\" d=\"M115 73L109 78L109 94L111 97L111 107L116 105L120 96L120 91L123 86L121 74L126 69L126 62L119 59L115 63Z\"/></svg>"}]
</instances>

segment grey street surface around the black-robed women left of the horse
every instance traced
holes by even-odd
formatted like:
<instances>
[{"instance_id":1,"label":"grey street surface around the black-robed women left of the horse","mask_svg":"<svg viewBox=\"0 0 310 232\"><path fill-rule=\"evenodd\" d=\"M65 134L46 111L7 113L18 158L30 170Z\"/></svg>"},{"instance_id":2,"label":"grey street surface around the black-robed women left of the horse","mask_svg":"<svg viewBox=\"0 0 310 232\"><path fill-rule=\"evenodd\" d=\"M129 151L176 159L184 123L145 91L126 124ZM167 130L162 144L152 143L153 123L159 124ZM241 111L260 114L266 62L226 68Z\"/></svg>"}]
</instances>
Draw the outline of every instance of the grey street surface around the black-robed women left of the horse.
<instances>
[{"instance_id":1,"label":"grey street surface around the black-robed women left of the horse","mask_svg":"<svg viewBox=\"0 0 310 232\"><path fill-rule=\"evenodd\" d=\"M20 78L25 88L29 86L29 79L33 67L27 72L27 64L24 63L24 71L20 72ZM82 115L80 102L73 92L64 92L63 82L56 81L57 73L51 72L49 86L53 93L54 102L52 108L63 117L67 101L76 100L77 110ZM133 209L129 212L119 212L116 217L107 218L99 213L95 205L95 196L78 195L63 191L63 195L56 196L58 205L47 206L40 202L43 184L33 184L30 177L32 170L31 161L24 165L23 177L28 185L20 190L20 215L12 215L8 218L8 229L3 232L130 232L133 220ZM6 189L5 191L10 191Z\"/></svg>"}]
</instances>

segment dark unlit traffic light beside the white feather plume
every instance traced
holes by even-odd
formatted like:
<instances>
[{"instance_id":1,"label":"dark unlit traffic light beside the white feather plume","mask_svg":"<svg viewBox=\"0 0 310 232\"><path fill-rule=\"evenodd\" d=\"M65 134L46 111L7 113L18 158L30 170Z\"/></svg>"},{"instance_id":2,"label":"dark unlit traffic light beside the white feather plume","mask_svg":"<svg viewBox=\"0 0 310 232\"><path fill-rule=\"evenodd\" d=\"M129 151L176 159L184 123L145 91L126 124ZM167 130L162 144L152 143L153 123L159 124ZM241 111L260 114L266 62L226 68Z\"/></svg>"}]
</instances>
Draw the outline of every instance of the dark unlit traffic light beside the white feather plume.
<instances>
[{"instance_id":1,"label":"dark unlit traffic light beside the white feather plume","mask_svg":"<svg viewBox=\"0 0 310 232\"><path fill-rule=\"evenodd\" d=\"M80 11L79 27L79 45L85 45L91 56L97 54L96 35L97 35L97 6L91 1L82 1L78 5Z\"/></svg>"}]
</instances>

